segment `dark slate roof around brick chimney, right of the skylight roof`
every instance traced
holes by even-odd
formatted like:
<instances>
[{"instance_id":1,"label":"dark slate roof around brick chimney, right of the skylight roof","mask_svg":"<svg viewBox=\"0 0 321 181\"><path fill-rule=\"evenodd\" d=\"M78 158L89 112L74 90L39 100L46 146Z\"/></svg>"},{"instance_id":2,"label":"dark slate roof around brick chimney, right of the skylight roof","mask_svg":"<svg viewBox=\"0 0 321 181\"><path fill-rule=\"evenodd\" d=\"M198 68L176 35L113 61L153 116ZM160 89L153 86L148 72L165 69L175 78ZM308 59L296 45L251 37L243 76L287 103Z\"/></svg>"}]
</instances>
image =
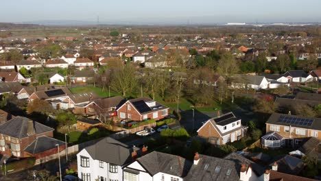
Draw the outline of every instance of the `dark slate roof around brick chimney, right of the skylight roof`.
<instances>
[{"instance_id":1,"label":"dark slate roof around brick chimney, right of the skylight roof","mask_svg":"<svg viewBox=\"0 0 321 181\"><path fill-rule=\"evenodd\" d=\"M261 165L257 164L256 162L253 162L252 160L249 160L248 158L245 158L244 156L241 156L235 152L228 154L228 156L226 156L224 159L226 160L231 160L233 162L235 162L235 167L237 169L237 173L239 173L239 171L241 170L241 164L246 164L246 165L250 165L254 171L254 173L257 174L257 176L261 176L264 171L265 168L262 167Z\"/></svg>"}]
</instances>

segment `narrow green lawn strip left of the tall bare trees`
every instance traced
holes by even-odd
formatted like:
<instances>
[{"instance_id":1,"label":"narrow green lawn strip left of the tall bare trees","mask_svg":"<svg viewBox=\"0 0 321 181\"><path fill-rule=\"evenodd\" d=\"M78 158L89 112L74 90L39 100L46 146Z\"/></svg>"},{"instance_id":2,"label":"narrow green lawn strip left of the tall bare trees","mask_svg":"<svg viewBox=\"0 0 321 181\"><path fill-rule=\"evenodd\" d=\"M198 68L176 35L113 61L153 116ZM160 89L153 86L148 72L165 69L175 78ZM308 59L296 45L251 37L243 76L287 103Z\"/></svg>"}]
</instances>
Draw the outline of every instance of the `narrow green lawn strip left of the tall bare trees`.
<instances>
[{"instance_id":1,"label":"narrow green lawn strip left of the tall bare trees","mask_svg":"<svg viewBox=\"0 0 321 181\"><path fill-rule=\"evenodd\" d=\"M72 87L69 88L71 93L73 94L80 94L80 93L95 93L99 97L108 97L108 88L106 88L104 91L102 91L102 88L100 87L94 87L94 86L85 86L85 87ZM115 93L112 90L110 90L110 97L119 95L119 93Z\"/></svg>"}]
</instances>

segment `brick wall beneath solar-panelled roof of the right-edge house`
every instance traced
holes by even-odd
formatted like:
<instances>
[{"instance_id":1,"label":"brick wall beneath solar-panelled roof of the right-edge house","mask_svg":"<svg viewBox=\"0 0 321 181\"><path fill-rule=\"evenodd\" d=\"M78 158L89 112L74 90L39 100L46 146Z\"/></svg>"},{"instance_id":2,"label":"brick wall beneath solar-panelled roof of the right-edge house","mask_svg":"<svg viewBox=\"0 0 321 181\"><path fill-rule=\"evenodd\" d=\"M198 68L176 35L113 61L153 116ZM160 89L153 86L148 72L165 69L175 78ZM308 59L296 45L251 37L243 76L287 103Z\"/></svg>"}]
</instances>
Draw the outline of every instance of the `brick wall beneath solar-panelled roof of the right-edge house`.
<instances>
[{"instance_id":1,"label":"brick wall beneath solar-panelled roof of the right-edge house","mask_svg":"<svg viewBox=\"0 0 321 181\"><path fill-rule=\"evenodd\" d=\"M274 130L271 130L271 125L273 124L266 124L266 132L277 132ZM290 132L285 132L284 128L285 127L289 127L289 126L285 126L285 125L276 125L280 127L280 131L277 132L278 134L280 134L281 136L285 137L285 138L290 138ZM316 138L318 138L318 140L321 141L321 131L320 130L311 130L311 129L305 129L305 128L296 128L294 126L291 126L292 128L292 132L291 132L291 138L307 138L307 137L311 137L314 136L312 134L312 132L318 132L318 136L316 136ZM305 135L300 135L300 134L296 134L296 129L300 129L300 130L305 130Z\"/></svg>"}]
</instances>

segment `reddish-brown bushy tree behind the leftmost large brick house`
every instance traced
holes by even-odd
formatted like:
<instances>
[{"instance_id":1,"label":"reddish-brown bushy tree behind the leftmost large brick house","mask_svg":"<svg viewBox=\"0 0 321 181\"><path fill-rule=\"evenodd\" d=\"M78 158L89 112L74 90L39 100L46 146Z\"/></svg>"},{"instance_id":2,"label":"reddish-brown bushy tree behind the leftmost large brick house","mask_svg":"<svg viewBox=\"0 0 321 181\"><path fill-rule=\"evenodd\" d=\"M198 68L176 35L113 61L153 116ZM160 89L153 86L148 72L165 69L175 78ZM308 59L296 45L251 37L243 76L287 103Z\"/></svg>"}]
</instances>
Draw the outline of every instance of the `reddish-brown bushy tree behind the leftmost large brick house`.
<instances>
[{"instance_id":1,"label":"reddish-brown bushy tree behind the leftmost large brick house","mask_svg":"<svg viewBox=\"0 0 321 181\"><path fill-rule=\"evenodd\" d=\"M27 112L31 114L32 112L38 112L41 114L49 114L53 112L53 107L47 101L42 99L34 99L27 104Z\"/></svg>"}]
</instances>

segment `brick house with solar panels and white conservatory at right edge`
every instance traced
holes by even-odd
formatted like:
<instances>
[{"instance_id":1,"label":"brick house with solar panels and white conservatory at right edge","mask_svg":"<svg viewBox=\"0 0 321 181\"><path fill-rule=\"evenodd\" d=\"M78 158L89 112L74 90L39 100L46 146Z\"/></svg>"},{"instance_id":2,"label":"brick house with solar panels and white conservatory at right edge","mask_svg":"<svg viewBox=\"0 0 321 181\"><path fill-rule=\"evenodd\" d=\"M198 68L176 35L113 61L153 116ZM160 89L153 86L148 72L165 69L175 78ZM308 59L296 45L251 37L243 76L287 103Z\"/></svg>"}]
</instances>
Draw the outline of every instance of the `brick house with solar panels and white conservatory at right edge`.
<instances>
[{"instance_id":1,"label":"brick house with solar panels and white conservatory at right edge","mask_svg":"<svg viewBox=\"0 0 321 181\"><path fill-rule=\"evenodd\" d=\"M285 145L298 145L309 137L321 140L320 125L321 118L273 113L266 122L268 134L262 136L261 143L264 147L278 148Z\"/></svg>"}]
</instances>

